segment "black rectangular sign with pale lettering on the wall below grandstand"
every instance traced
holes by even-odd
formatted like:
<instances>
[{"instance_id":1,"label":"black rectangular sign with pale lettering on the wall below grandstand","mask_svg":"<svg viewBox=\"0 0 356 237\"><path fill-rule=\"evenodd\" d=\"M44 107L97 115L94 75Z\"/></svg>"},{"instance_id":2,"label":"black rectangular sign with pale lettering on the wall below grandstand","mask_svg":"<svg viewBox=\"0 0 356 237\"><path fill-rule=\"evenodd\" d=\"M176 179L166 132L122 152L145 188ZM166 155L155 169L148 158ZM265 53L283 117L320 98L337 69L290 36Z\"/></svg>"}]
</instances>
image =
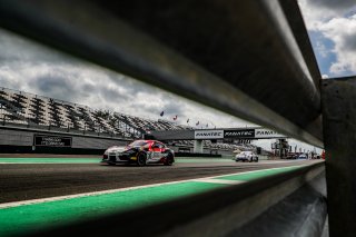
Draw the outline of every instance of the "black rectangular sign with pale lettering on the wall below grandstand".
<instances>
[{"instance_id":1,"label":"black rectangular sign with pale lettering on the wall below grandstand","mask_svg":"<svg viewBox=\"0 0 356 237\"><path fill-rule=\"evenodd\" d=\"M33 146L37 147L71 147L71 137L34 135Z\"/></svg>"}]
</instances>

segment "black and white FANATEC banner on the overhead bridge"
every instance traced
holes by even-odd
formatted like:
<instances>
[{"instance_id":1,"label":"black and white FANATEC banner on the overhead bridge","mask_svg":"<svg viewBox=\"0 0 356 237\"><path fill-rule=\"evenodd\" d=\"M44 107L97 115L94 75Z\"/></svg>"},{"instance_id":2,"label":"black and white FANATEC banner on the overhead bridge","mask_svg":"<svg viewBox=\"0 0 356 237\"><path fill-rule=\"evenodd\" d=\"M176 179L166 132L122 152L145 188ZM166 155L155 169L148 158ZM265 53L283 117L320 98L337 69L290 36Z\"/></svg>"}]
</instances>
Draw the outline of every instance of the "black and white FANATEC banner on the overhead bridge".
<instances>
[{"instance_id":1,"label":"black and white FANATEC banner on the overhead bridge","mask_svg":"<svg viewBox=\"0 0 356 237\"><path fill-rule=\"evenodd\" d=\"M267 138L285 138L274 130L264 128L248 128L248 129L227 129L227 130L196 130L195 139L267 139Z\"/></svg>"}]
</instances>

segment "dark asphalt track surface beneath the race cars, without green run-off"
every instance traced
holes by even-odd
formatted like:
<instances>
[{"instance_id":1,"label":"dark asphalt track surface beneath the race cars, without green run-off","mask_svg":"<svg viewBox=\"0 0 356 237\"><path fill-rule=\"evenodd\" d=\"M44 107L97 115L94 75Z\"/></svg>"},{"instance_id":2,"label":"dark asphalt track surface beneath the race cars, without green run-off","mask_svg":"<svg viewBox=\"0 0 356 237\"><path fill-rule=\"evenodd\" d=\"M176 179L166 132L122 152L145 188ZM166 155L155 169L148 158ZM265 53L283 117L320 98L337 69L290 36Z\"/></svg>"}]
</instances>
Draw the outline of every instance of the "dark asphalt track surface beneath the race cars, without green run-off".
<instances>
[{"instance_id":1,"label":"dark asphalt track surface beneath the race cars, without green run-off","mask_svg":"<svg viewBox=\"0 0 356 237\"><path fill-rule=\"evenodd\" d=\"M171 167L136 167L101 165L99 158L77 160L81 162L72 159L72 162L62 164L53 159L55 164L3 164L0 158L0 204L314 162L266 160L250 164L228 159L177 159Z\"/></svg>"}]
</instances>

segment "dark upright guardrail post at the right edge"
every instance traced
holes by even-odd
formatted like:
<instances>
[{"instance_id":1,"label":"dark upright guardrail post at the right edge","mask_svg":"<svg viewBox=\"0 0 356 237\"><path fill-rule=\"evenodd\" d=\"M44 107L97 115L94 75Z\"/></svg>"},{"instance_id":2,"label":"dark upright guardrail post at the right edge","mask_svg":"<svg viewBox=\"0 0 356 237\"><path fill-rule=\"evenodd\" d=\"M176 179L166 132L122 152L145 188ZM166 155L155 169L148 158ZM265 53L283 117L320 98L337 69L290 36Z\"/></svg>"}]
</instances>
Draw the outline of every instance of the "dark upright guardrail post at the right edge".
<instances>
[{"instance_id":1,"label":"dark upright guardrail post at the right edge","mask_svg":"<svg viewBox=\"0 0 356 237\"><path fill-rule=\"evenodd\" d=\"M356 233L356 77L322 82L330 236Z\"/></svg>"}]
</instances>

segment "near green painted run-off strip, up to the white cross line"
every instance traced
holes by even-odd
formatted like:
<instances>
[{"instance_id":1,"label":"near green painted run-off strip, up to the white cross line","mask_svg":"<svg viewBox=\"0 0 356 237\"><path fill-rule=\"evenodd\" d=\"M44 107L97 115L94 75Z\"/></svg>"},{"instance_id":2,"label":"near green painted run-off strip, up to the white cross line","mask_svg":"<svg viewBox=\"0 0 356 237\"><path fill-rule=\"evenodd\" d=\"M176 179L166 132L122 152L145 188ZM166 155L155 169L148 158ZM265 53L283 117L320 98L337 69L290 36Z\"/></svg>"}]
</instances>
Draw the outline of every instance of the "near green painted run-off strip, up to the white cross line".
<instances>
[{"instance_id":1,"label":"near green painted run-off strip, up to the white cross line","mask_svg":"<svg viewBox=\"0 0 356 237\"><path fill-rule=\"evenodd\" d=\"M0 209L0 236L24 234L135 209L221 186L189 181Z\"/></svg>"}]
</instances>

